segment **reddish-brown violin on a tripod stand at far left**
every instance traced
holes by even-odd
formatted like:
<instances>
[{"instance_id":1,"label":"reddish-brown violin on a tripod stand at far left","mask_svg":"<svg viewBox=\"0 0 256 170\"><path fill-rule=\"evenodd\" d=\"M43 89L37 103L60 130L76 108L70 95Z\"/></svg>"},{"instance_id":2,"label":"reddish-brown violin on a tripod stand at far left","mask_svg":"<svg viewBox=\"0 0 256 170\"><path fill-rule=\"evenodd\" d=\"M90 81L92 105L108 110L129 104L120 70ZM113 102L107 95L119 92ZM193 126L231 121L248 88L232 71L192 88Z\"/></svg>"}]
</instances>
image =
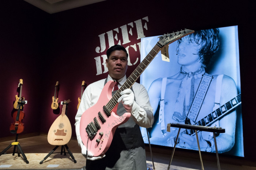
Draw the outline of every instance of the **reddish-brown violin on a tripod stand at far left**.
<instances>
[{"instance_id":1,"label":"reddish-brown violin on a tripod stand at far left","mask_svg":"<svg viewBox=\"0 0 256 170\"><path fill-rule=\"evenodd\" d=\"M19 104L18 110L13 112L13 115L12 115L14 122L11 123L11 126L10 126L11 133L21 133L24 131L24 123L22 123L22 120L24 119L25 113L22 110L20 110L21 104L22 105L25 104L23 97L20 99L18 104Z\"/></svg>"}]
</instances>

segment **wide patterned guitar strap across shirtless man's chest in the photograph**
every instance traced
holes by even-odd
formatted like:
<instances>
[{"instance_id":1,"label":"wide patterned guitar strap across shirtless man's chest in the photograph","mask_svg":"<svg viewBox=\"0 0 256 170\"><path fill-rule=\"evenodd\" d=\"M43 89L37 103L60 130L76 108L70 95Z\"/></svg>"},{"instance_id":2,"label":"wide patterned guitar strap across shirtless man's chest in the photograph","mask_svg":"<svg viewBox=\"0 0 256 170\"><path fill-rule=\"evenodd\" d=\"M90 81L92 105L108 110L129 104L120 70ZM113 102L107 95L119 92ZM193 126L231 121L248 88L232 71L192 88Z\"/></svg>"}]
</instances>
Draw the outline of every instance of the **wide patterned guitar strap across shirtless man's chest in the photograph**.
<instances>
[{"instance_id":1,"label":"wide patterned guitar strap across shirtless man's chest in the photograph","mask_svg":"<svg viewBox=\"0 0 256 170\"><path fill-rule=\"evenodd\" d=\"M202 107L203 100L205 98L205 95L207 93L207 90L210 86L212 79L213 76L207 73L204 73L202 76L201 82L198 86L197 92L195 94L195 97L193 99L193 102L189 108L187 115L187 118L192 120L193 122L196 122L197 116Z\"/></svg>"}]
</instances>

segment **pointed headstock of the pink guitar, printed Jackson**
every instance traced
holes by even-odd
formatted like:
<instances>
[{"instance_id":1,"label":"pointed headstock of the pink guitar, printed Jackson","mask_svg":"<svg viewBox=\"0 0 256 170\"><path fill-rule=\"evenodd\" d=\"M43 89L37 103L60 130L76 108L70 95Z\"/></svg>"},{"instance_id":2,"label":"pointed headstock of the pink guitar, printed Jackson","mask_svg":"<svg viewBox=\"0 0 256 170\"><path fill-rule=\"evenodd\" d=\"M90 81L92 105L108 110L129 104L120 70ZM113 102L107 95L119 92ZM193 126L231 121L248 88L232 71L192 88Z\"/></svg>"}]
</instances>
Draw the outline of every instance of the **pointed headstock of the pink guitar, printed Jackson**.
<instances>
[{"instance_id":1,"label":"pointed headstock of the pink guitar, printed Jackson","mask_svg":"<svg viewBox=\"0 0 256 170\"><path fill-rule=\"evenodd\" d=\"M194 33L195 31L190 30L190 29L185 29L185 30L181 30L178 32L173 32L171 34L164 34L162 36L160 36L160 40L158 41L158 45L162 48L164 46L167 46L168 44L171 44L172 42L187 36L189 34Z\"/></svg>"}]
</instances>

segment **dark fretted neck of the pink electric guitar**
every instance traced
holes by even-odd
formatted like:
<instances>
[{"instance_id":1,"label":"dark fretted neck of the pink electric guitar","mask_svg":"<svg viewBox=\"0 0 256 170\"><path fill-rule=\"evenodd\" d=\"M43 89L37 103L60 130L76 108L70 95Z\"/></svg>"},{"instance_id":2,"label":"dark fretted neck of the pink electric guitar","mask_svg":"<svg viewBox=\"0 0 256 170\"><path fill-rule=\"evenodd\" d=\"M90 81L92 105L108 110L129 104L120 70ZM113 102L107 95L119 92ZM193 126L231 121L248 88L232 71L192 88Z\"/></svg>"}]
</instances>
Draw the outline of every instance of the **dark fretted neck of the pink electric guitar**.
<instances>
[{"instance_id":1,"label":"dark fretted neck of the pink electric guitar","mask_svg":"<svg viewBox=\"0 0 256 170\"><path fill-rule=\"evenodd\" d=\"M149 65L149 63L154 59L154 57L157 55L160 49L161 49L160 45L156 44L155 47L149 52L149 54L139 64L139 66L127 78L124 84L117 90L117 92L113 95L111 100L106 104L106 109L108 110L108 112L111 112L112 109L118 103L117 100L121 97L120 92L132 87L132 85L138 80L139 76L142 74L145 68Z\"/></svg>"}]
</instances>

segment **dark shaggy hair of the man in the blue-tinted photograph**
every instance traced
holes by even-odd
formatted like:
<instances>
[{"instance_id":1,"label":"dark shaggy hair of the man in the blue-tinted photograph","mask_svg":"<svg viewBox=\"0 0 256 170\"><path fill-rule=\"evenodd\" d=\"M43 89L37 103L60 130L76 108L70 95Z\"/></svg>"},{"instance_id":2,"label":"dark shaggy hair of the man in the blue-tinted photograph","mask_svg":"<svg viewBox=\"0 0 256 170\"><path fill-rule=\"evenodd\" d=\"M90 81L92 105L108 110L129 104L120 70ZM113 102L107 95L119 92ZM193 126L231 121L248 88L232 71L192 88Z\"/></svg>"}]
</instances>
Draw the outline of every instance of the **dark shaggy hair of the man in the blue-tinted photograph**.
<instances>
[{"instance_id":1,"label":"dark shaggy hair of the man in the blue-tinted photograph","mask_svg":"<svg viewBox=\"0 0 256 170\"><path fill-rule=\"evenodd\" d=\"M219 28L214 28L214 29L198 30L198 31L195 31L193 34L187 35L187 37L190 40L194 39L194 41L198 45L200 44L202 45L197 54L200 56L203 67L206 67L210 63L212 56L219 49L219 46L220 46L219 33L220 33ZM181 42L182 40L179 39L177 50Z\"/></svg>"}]
</instances>

